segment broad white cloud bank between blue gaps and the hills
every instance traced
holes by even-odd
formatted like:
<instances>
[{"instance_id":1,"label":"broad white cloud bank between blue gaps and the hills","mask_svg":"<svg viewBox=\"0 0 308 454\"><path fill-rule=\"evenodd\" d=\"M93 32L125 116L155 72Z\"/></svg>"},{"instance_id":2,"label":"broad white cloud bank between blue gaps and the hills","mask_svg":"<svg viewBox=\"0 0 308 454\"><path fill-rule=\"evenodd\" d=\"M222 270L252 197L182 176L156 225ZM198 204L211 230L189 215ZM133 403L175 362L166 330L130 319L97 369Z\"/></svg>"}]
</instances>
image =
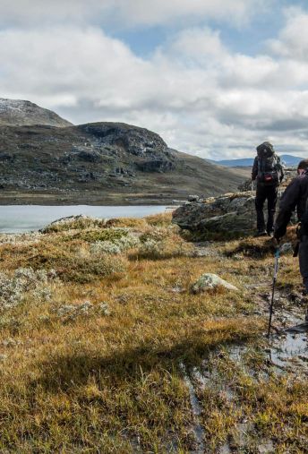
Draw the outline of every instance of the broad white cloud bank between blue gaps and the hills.
<instances>
[{"instance_id":1,"label":"broad white cloud bank between blue gaps and the hills","mask_svg":"<svg viewBox=\"0 0 308 454\"><path fill-rule=\"evenodd\" d=\"M179 32L148 60L94 26L12 28L0 32L0 61L1 97L75 123L138 124L203 157L308 144L308 64L233 53L208 27Z\"/></svg>"}]
</instances>

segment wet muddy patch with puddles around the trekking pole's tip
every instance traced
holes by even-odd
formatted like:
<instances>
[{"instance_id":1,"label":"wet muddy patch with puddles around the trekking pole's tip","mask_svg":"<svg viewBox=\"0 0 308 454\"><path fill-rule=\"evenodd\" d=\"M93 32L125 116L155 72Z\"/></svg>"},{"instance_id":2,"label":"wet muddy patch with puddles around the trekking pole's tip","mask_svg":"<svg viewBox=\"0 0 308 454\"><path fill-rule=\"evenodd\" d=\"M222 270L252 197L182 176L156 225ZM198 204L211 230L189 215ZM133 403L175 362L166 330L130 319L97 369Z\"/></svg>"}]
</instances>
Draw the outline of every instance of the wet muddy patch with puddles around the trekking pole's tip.
<instances>
[{"instance_id":1,"label":"wet muddy patch with puddles around the trekking pole's tip","mask_svg":"<svg viewBox=\"0 0 308 454\"><path fill-rule=\"evenodd\" d=\"M255 365L253 358L256 361ZM197 397L202 390L215 391L230 408L236 409L240 406L235 382L219 369L221 359L231 361L255 382L270 380L272 373L308 374L308 333L306 331L274 333L270 338L261 339L257 347L234 345L219 349L199 367L186 369L184 364L181 364L193 411L193 434L198 444L196 450L191 450L192 453L208 452L206 433L201 424L202 407ZM227 441L215 452L218 454L246 452L246 449L249 450L251 447L254 449L253 452L260 454L275 452L274 442L260 438L256 427L244 418L235 424Z\"/></svg>"}]
</instances>

